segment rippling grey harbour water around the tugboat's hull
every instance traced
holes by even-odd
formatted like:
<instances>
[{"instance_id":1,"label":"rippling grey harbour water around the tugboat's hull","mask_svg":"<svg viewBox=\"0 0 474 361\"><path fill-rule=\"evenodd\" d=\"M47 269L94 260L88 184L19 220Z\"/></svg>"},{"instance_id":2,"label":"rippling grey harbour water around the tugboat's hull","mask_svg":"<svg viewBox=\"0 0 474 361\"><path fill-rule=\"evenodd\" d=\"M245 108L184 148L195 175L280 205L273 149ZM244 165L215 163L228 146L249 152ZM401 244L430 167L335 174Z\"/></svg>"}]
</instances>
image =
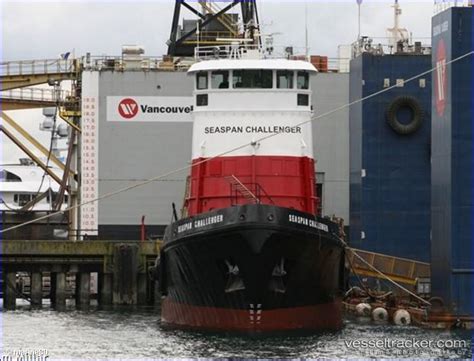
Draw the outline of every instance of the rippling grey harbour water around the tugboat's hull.
<instances>
[{"instance_id":1,"label":"rippling grey harbour water around the tugboat's hull","mask_svg":"<svg viewBox=\"0 0 474 361\"><path fill-rule=\"evenodd\" d=\"M170 330L153 309L50 309L27 307L2 313L3 354L46 350L49 360L166 358L465 358L472 359L470 331L423 330L346 320L338 332L320 334L232 335ZM410 342L427 340L431 347L351 347L355 340ZM436 342L463 341L452 348ZM451 346L447 344L445 346Z\"/></svg>"}]
</instances>

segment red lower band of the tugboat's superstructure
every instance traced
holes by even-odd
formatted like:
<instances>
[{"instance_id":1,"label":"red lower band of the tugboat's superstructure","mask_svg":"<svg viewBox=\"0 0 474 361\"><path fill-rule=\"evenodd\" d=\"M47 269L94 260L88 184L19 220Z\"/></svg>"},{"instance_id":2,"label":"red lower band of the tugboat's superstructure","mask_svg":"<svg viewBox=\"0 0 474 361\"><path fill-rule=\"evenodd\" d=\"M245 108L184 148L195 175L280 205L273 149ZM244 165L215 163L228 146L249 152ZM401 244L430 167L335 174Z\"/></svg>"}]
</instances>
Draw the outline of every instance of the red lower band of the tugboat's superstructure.
<instances>
[{"instance_id":1,"label":"red lower band of the tugboat's superstructure","mask_svg":"<svg viewBox=\"0 0 474 361\"><path fill-rule=\"evenodd\" d=\"M314 160L308 157L240 156L218 157L207 162L193 160L188 215L245 204L249 200L236 190L235 176L262 204L273 204L315 214Z\"/></svg>"}]
</instances>

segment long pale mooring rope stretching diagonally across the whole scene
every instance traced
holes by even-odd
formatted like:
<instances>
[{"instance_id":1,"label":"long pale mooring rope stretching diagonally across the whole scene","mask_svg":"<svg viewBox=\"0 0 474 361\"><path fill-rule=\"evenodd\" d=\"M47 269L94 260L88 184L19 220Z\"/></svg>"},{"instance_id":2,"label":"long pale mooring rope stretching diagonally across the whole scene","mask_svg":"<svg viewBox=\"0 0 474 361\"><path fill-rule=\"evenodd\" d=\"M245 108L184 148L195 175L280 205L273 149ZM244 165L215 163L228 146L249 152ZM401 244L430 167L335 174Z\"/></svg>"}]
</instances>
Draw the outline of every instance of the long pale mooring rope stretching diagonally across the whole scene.
<instances>
[{"instance_id":1,"label":"long pale mooring rope stretching diagonally across the whole scene","mask_svg":"<svg viewBox=\"0 0 474 361\"><path fill-rule=\"evenodd\" d=\"M457 57L457 58L455 58L455 59L452 59L452 60L446 62L445 65L450 65L450 64L452 64L452 63L455 63L455 62L457 62L457 61L459 61L459 60L461 60L461 59L463 59L463 58L466 58L466 57L468 57L468 56L470 56L470 55L472 55L472 54L474 54L474 51L470 51L470 52L468 52L468 53L466 53L466 54L464 54L464 55L461 55L461 56L459 56L459 57ZM415 76L413 76L413 77L411 77L411 78L405 80L404 83L409 83L409 82L411 82L411 81L413 81L413 80L415 80L415 79L417 79L417 78L419 78L419 77L421 77L421 76L423 76L423 75L430 74L431 72L433 72L433 71L435 71L436 69L438 69L438 67L441 67L441 65L438 65L438 66L436 66L436 67L434 67L434 68L431 68L431 69L429 69L429 70L427 70L427 71L424 71L424 72L422 72L422 73L420 73L420 74L418 74L418 75L415 75ZM393 89L393 88L396 88L396 87L398 87L397 84L395 84L395 85L393 85L393 86L390 86L390 87L388 87L388 88L382 89L382 90L380 90L380 91L378 91L378 92L375 92L375 93L373 93L373 94L367 95L366 97L363 97L363 98L354 100L354 101L352 101L352 102L350 102L350 103L344 104L344 105L342 105L342 106L340 106L340 107L338 107L338 108L335 108L335 109L333 109L333 110L330 110L330 111L328 111L328 112L326 112L326 113L320 114L320 115L318 115L318 116L313 116L313 117L311 117L311 119L306 120L306 121L304 121L304 122L301 122L301 123L299 123L299 124L296 124L295 126L304 125L304 124L307 124L307 123L311 123L311 122L314 121L314 120L327 117L328 115L331 115L331 114L333 114L333 113L336 113L336 112L338 112L338 111L340 111L340 110L343 110L343 109L345 109L345 108L349 108L350 106L352 106L352 105L354 105L354 104L362 103L362 102L366 101L367 99L373 98L373 97L375 97L375 96L377 96L377 95L380 95L380 94L382 94L382 93L385 93L385 92L387 92L387 91L389 91L389 90L391 90L391 89ZM267 135L267 136L264 136L264 137L262 137L262 138L257 139L256 142L261 142L261 141L264 141L264 140L266 140L266 139L275 137L275 136L280 135L280 134L283 134L283 133L282 133L282 132L275 132L275 133L273 133L273 134L270 134L270 135ZM167 173L164 173L164 174L162 174L162 175L159 175L159 176L150 178L150 179L148 179L148 180L146 180L146 181L143 181L143 182L140 182L140 183L137 183L137 184L128 186L128 187L124 187L124 188L118 189L118 190L116 190L116 191L112 191L112 192L110 192L110 193L106 193L106 194L104 194L104 195L102 195L102 196L99 196L99 197L97 197L97 198L95 198L95 199L91 199L90 201L87 201L87 202L84 202L84 203L81 203L81 204L77 204L77 205L75 205L75 206L71 206L71 207L65 208L65 209L63 209L63 210L59 210L59 211L57 211L57 212L53 212L53 213L50 213L50 214L47 214L47 215L38 217L38 218L32 219L32 220L30 220L30 221L24 222L24 223L20 223L20 224L17 224L17 225L15 225L15 226L11 226L11 227L2 229L2 230L0 230L0 234L3 234L3 233L8 232L8 231L12 231L12 230L14 230L14 229L18 229L18 228L24 227L24 226L26 226L26 225L28 225L28 224L35 223L35 222L41 221L41 220L43 220L43 219L47 219L47 218L49 218L49 217L53 217L53 216L55 216L55 215L57 215L57 214L61 214L61 213L64 213L64 212L67 212L67 211L70 211L70 210L73 210L73 209L77 209L77 208L80 208L80 207L85 206L85 205L88 205L88 204L91 204L91 203L98 202L98 201L103 200L103 199L106 199L106 198L110 198L110 197L115 196L115 195L117 195L117 194L127 192L127 191L129 191L129 190L132 190L132 189L135 189L135 188L138 188L138 187L147 185L147 184L152 183L152 182L155 182L155 181L157 181L157 180L161 180L161 179L163 179L163 178L165 178L165 177L168 177L168 176L170 176L170 175L172 175L172 174L176 174L176 173L183 172L183 171L185 171L185 170L189 170L189 169L191 169L192 167L195 167L195 166L204 164L204 163L209 162L209 161L211 161L211 160L213 160L213 159L215 159L215 158L222 157L222 156L224 156L224 155L227 155L227 154L229 154L229 153L235 152L235 151L237 151L237 150L243 149L243 148L248 147L248 146L252 146L252 143L254 143L254 141L249 142L249 143L242 144L242 145L240 145L240 146L238 146L238 147L235 147L235 148L233 148L233 149L229 149L229 150L224 151L224 152L222 152L222 153L219 153L219 154L217 154L217 155L215 155L215 156L213 156L213 157L203 159L202 161L196 162L196 163L194 163L194 164L187 165L187 166L184 166L184 167L181 167L181 168L177 168L177 169L175 169L175 170L171 170L171 171L169 171L169 172L167 172Z\"/></svg>"}]
</instances>

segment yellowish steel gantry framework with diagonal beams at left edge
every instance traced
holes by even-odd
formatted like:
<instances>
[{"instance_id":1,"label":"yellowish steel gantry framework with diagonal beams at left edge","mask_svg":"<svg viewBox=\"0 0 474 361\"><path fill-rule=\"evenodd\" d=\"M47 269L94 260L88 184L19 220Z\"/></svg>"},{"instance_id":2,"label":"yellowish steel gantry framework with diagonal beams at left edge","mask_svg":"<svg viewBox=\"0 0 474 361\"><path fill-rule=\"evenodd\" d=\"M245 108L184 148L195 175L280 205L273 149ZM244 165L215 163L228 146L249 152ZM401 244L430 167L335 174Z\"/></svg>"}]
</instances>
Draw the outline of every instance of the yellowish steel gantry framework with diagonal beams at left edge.
<instances>
[{"instance_id":1,"label":"yellowish steel gantry framework with diagonal beams at left edge","mask_svg":"<svg viewBox=\"0 0 474 361\"><path fill-rule=\"evenodd\" d=\"M16 146L44 170L60 185L58 200L53 209L61 207L65 192L70 195L69 205L77 205L78 199L78 169L79 161L76 139L80 135L80 106L81 106L81 73L80 59L40 59L7 61L0 63L0 98L2 102L2 124L0 131ZM61 90L62 81L71 82L71 91ZM47 84L51 88L35 88L33 86ZM50 150L41 145L28 133L19 122L6 114L5 111L57 107L57 114L71 128L69 132L69 149L66 163L61 162ZM21 135L23 140L14 134ZM39 151L63 171L62 177L55 174L34 151ZM38 194L32 202L37 202L44 195ZM77 229L78 216L75 209L69 213L69 228ZM70 232L70 235L73 235ZM74 237L74 236L72 236Z\"/></svg>"}]
</instances>

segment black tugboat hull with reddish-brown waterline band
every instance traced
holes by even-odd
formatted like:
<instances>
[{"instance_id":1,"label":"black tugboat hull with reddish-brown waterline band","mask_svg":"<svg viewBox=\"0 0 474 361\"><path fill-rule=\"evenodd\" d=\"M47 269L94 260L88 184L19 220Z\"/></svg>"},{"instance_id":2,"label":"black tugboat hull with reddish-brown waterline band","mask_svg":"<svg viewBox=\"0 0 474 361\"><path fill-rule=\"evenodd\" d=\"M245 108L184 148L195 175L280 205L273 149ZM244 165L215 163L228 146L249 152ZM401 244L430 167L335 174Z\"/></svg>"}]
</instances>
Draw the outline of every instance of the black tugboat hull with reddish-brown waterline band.
<instances>
[{"instance_id":1,"label":"black tugboat hull with reddish-brown waterline band","mask_svg":"<svg viewBox=\"0 0 474 361\"><path fill-rule=\"evenodd\" d=\"M327 220L268 205L172 224L160 260L163 322L225 330L339 328L344 251L337 232Z\"/></svg>"}]
</instances>

